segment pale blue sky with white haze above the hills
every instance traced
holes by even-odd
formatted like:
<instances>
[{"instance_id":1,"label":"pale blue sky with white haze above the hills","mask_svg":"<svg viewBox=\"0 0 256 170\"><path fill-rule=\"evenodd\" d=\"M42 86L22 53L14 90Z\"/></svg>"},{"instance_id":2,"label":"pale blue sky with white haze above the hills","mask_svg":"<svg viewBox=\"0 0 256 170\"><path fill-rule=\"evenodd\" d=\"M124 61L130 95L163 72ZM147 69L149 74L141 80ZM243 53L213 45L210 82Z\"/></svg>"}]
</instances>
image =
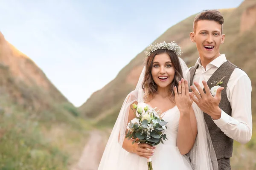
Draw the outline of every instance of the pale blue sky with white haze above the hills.
<instances>
[{"instance_id":1,"label":"pale blue sky with white haze above the hills","mask_svg":"<svg viewBox=\"0 0 256 170\"><path fill-rule=\"evenodd\" d=\"M242 1L0 0L0 31L80 106L171 26Z\"/></svg>"}]
</instances>

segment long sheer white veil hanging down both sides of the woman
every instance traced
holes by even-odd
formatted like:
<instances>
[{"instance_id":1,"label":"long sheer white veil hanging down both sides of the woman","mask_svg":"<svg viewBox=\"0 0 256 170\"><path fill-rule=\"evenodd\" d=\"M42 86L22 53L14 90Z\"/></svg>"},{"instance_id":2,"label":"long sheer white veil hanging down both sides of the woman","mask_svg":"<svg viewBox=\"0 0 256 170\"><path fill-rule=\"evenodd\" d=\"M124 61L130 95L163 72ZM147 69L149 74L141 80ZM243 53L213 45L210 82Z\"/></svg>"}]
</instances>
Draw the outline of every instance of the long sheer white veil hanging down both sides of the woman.
<instances>
[{"instance_id":1,"label":"long sheer white veil hanging down both sides of the woman","mask_svg":"<svg viewBox=\"0 0 256 170\"><path fill-rule=\"evenodd\" d=\"M188 82L190 82L190 73L186 63L180 57L179 61L182 67L184 79L187 79ZM105 151L102 155L98 170L121 170L125 169L124 167L126 167L126 169L135 170L140 169L138 166L141 162L146 161L145 158L128 153L122 148L122 144L125 139L125 130L128 123L130 105L135 101L143 102L144 92L142 89L142 83L144 74L145 66L140 74L135 90L128 94L123 102L122 108L105 147ZM207 125L204 121L204 113L195 103L193 103L192 108L195 111L198 134L194 146L185 157L190 161L193 170L218 170L218 162ZM141 169L143 168L144 167L141 167Z\"/></svg>"}]
</instances>

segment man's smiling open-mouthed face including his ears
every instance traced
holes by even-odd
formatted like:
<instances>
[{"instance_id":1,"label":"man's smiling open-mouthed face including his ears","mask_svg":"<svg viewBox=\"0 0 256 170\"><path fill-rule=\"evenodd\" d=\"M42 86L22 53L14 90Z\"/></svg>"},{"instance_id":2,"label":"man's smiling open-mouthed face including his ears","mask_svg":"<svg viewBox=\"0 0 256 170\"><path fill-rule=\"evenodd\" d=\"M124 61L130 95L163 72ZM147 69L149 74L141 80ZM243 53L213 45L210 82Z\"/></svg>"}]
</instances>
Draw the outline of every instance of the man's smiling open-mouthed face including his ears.
<instances>
[{"instance_id":1,"label":"man's smiling open-mouthed face including his ears","mask_svg":"<svg viewBox=\"0 0 256 170\"><path fill-rule=\"evenodd\" d=\"M217 58L219 48L224 43L225 35L221 34L221 24L211 20L200 20L194 32L190 33L192 42L196 43L200 57L213 60Z\"/></svg>"}]
</instances>

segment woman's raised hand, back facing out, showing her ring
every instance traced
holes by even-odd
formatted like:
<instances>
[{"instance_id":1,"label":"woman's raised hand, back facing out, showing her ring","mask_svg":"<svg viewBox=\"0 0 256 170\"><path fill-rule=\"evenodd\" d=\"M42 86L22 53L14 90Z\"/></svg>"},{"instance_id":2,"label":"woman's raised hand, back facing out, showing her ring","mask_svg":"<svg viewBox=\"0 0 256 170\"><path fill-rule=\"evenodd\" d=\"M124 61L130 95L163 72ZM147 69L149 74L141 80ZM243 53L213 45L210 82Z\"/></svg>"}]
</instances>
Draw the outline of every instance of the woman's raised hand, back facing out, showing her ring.
<instances>
[{"instance_id":1,"label":"woman's raised hand, back facing out, showing her ring","mask_svg":"<svg viewBox=\"0 0 256 170\"><path fill-rule=\"evenodd\" d=\"M189 109L193 103L192 99L189 96L189 85L188 81L181 79L179 81L179 92L177 92L177 87L174 88L175 92L175 102L180 111L180 113L186 114L189 113Z\"/></svg>"}]
</instances>

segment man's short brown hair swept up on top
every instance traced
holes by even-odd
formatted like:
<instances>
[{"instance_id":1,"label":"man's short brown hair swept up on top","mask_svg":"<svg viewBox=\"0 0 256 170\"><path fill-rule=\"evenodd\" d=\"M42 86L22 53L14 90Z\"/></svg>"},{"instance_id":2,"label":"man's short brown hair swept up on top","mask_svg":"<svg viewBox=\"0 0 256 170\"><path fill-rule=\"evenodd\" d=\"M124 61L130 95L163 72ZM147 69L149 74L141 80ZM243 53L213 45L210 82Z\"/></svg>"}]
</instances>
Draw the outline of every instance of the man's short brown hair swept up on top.
<instances>
[{"instance_id":1,"label":"man's short brown hair swept up on top","mask_svg":"<svg viewBox=\"0 0 256 170\"><path fill-rule=\"evenodd\" d=\"M197 23L200 20L210 20L210 21L218 22L219 24L221 24L221 34L222 34L224 19L221 12L218 11L217 9L204 10L204 11L201 11L199 14L197 14L195 16L194 24L193 24L194 32L196 30Z\"/></svg>"}]
</instances>

